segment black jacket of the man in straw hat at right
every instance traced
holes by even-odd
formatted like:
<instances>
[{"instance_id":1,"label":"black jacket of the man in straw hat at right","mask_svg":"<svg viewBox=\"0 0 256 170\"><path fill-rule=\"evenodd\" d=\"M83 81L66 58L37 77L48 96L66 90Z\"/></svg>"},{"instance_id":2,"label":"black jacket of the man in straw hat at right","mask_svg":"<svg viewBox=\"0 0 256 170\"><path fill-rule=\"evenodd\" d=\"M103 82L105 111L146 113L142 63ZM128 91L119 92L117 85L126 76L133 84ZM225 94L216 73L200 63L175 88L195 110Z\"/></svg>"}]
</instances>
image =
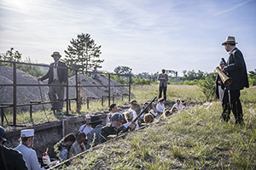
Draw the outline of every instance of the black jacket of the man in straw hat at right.
<instances>
[{"instance_id":1,"label":"black jacket of the man in straw hat at right","mask_svg":"<svg viewBox=\"0 0 256 170\"><path fill-rule=\"evenodd\" d=\"M238 48L234 48L230 52L224 71L229 73L229 77L233 78L233 82L227 87L228 90L241 90L249 88L247 77L247 66Z\"/></svg>"}]
</instances>

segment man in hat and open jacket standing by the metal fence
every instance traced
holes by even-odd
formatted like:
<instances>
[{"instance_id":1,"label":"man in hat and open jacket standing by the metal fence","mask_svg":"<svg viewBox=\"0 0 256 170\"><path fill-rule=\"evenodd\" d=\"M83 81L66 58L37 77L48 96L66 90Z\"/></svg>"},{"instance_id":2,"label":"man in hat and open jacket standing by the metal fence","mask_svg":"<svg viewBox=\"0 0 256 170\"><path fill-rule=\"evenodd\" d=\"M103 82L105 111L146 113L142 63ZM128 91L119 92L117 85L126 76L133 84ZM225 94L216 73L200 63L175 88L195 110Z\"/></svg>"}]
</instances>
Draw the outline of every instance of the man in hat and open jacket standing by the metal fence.
<instances>
[{"instance_id":1,"label":"man in hat and open jacket standing by the metal fence","mask_svg":"<svg viewBox=\"0 0 256 170\"><path fill-rule=\"evenodd\" d=\"M65 85L67 83L67 69L57 68L57 67L66 67L66 64L61 62L61 54L59 52L54 52L51 57L55 60L54 63L50 64L49 71L44 75L44 77L38 78L38 81L44 81L49 79L48 84L60 84ZM56 67L57 66L57 67ZM49 100L51 102L64 99L64 86L49 86ZM62 111L63 101L57 103L52 103L52 110L56 110L58 113Z\"/></svg>"}]
</instances>

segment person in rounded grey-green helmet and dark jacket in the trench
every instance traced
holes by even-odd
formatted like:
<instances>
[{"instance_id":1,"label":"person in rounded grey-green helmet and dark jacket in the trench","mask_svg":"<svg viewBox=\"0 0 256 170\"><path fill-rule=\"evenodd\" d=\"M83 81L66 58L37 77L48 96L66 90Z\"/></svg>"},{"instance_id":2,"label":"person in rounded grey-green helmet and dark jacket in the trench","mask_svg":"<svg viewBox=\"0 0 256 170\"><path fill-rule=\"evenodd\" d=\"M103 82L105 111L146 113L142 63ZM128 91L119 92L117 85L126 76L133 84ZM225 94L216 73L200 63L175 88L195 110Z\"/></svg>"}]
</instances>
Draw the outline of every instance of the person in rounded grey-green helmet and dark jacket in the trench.
<instances>
[{"instance_id":1,"label":"person in rounded grey-green helmet and dark jacket in the trench","mask_svg":"<svg viewBox=\"0 0 256 170\"><path fill-rule=\"evenodd\" d=\"M125 129L125 127L122 126L122 123L124 122L124 117L120 113L114 113L113 116L111 116L110 122L110 125L102 127L100 133L101 143L104 143L108 140L108 135L118 135L121 131Z\"/></svg>"}]
</instances>

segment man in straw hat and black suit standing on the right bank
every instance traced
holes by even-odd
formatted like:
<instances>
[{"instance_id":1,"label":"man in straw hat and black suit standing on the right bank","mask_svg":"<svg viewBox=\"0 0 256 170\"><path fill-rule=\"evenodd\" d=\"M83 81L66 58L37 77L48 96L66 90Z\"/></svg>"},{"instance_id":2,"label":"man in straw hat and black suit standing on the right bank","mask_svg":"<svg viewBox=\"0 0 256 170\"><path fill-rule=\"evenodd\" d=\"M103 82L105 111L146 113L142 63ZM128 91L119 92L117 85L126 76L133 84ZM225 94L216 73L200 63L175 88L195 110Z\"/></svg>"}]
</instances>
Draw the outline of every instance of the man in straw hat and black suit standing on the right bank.
<instances>
[{"instance_id":1,"label":"man in straw hat and black suit standing on the right bank","mask_svg":"<svg viewBox=\"0 0 256 170\"><path fill-rule=\"evenodd\" d=\"M227 60L227 64L224 66L223 71L233 78L233 82L230 86L227 86L230 109L235 116L235 125L243 124L243 115L241 108L240 90L243 88L249 88L248 77L247 77L247 66L241 51L236 48L235 37L228 36L222 43L225 50L229 52L230 56Z\"/></svg>"}]
</instances>

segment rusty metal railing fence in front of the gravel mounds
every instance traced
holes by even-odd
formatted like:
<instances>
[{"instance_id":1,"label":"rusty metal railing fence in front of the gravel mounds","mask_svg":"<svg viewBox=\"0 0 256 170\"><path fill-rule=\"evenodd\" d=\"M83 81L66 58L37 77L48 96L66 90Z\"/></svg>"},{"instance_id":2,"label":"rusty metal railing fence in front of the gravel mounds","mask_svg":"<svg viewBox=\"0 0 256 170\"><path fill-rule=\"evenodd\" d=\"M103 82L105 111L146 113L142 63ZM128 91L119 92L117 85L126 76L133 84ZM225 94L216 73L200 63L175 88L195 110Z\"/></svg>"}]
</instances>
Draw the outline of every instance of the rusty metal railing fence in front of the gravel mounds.
<instances>
[{"instance_id":1,"label":"rusty metal railing fence in front of the gravel mounds","mask_svg":"<svg viewBox=\"0 0 256 170\"><path fill-rule=\"evenodd\" d=\"M124 96L128 96L129 98L129 101L131 100L131 75L119 75L119 76L125 76L125 77L129 77L129 84L128 85L111 85L110 84L110 77L111 75L117 75L117 74L114 74L114 73L101 73L101 74L107 74L108 75L108 85L96 85L96 86L93 86L93 85L88 85L88 86L81 86L80 85L80 82L79 82L79 74L78 74L78 71L77 70L74 70L75 71L75 85L73 86L70 86L68 84L68 71L69 70L73 70L72 68L69 68L69 67L59 67L59 66L51 66L51 65L40 65L40 64L33 64L33 63L24 63L24 62L15 62L15 61L5 61L5 60L0 60L0 63L3 62L3 63L11 63L13 65L13 83L3 83L3 84L0 84L0 87L4 87L4 86L10 86L10 87L13 87L13 102L12 103L1 103L0 104L0 109L1 109L1 120L2 120L2 125L3 125L3 121L4 121L4 118L6 120L6 122L9 124L5 114L4 114L4 109L5 108L12 108L13 109L13 125L16 126L16 116L17 116L17 107L20 107L20 106L29 106L30 107L30 118L32 119L32 105L44 105L44 104L52 104L52 103L55 103L55 102L58 102L57 101L54 101L54 102L50 102L50 101L29 101L30 103L26 103L26 104L17 104L17 87L24 87L24 86L38 86L39 88L41 87L44 87L44 86L64 86L66 87L66 99L63 100L63 102L66 102L66 107L67 107L67 114L68 112L70 111L71 109L71 100L75 100L76 101L76 106L78 108L78 105L79 105L79 88L97 88L97 87L105 87L105 88L108 88L108 95L106 96L100 96L100 97L97 97L97 98L94 98L94 97L87 97L87 99L84 99L84 101L86 100L86 104L87 104L87 109L89 109L89 102L90 100L92 99L102 99L102 105L103 105L103 101L104 99L108 99L108 105L110 105L110 102L111 102L111 99L113 99L113 102L114 102L114 98L115 97L122 97L122 99L124 99ZM67 83L64 85L60 85L60 84L19 84L17 83L17 65L34 65L34 66L44 66L44 67L53 67L53 68L61 68L61 69L67 69ZM117 95L114 95L111 96L111 93L110 93L110 88L111 87L126 87L128 88L128 94L122 94L121 96L117 96ZM76 94L75 94L75 98L69 98L68 97L68 90L69 88L76 88ZM0 94L0 95L4 95L4 94ZM9 124L11 125L11 124Z\"/></svg>"}]
</instances>

